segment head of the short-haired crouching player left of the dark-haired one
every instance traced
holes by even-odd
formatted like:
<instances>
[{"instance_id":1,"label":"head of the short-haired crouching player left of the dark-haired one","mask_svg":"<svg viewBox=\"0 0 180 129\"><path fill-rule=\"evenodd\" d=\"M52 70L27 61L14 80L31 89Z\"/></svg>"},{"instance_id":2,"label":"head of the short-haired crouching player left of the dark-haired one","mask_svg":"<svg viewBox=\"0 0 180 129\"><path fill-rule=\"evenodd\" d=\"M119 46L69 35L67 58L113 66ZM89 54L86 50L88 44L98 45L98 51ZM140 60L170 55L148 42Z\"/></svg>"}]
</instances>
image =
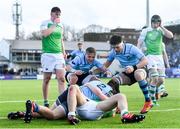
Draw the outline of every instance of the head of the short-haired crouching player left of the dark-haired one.
<instances>
[{"instance_id":1,"label":"head of the short-haired crouching player left of the dark-haired one","mask_svg":"<svg viewBox=\"0 0 180 129\"><path fill-rule=\"evenodd\" d=\"M93 62L96 56L96 50L93 47L88 47L86 49L86 59L88 62Z\"/></svg>"}]
</instances>

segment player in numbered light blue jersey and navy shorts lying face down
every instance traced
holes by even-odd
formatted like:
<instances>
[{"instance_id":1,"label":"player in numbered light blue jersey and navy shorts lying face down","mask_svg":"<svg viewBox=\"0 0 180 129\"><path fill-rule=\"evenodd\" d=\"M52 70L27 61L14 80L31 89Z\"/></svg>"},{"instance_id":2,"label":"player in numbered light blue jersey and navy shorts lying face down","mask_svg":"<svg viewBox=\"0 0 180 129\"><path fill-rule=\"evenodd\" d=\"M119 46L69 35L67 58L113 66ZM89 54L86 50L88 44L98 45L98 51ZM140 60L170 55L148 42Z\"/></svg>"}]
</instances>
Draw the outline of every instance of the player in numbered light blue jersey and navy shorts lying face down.
<instances>
[{"instance_id":1,"label":"player in numbered light blue jersey and navy shorts lying face down","mask_svg":"<svg viewBox=\"0 0 180 129\"><path fill-rule=\"evenodd\" d=\"M119 87L116 83L111 80L106 84L98 79L96 76L91 75L90 82L80 86L81 92L87 96L88 98L96 101L105 100L113 94L119 93ZM67 94L68 90L66 90L62 95L58 97L58 99L54 102L51 108L45 108L44 106L39 107L39 111L37 113L33 113L33 117L45 117L47 119L59 119L65 117L64 109L67 109ZM63 110L63 111L61 111ZM37 111L36 111L37 112ZM61 115L63 114L63 115ZM24 112L11 112L8 114L9 119L18 119L24 118ZM30 121L30 120L29 120Z\"/></svg>"}]
</instances>

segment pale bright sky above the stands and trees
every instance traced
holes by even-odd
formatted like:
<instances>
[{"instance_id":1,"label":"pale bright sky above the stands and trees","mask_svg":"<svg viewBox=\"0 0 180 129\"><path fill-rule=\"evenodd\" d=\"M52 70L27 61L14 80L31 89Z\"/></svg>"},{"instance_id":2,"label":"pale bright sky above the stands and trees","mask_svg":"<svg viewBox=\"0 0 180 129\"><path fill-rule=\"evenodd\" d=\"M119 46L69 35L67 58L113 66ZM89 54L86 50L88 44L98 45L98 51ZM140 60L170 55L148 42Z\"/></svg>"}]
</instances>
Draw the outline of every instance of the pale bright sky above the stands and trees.
<instances>
[{"instance_id":1,"label":"pale bright sky above the stands and trees","mask_svg":"<svg viewBox=\"0 0 180 129\"><path fill-rule=\"evenodd\" d=\"M76 29L90 24L108 28L141 28L146 23L146 0L19 0L22 4L23 22L20 31L26 35L38 31L43 20L49 19L50 9L59 6L61 21ZM1 0L0 39L13 39L12 24L14 0ZM180 19L180 0L149 0L150 16L159 14L163 23Z\"/></svg>"}]
</instances>

